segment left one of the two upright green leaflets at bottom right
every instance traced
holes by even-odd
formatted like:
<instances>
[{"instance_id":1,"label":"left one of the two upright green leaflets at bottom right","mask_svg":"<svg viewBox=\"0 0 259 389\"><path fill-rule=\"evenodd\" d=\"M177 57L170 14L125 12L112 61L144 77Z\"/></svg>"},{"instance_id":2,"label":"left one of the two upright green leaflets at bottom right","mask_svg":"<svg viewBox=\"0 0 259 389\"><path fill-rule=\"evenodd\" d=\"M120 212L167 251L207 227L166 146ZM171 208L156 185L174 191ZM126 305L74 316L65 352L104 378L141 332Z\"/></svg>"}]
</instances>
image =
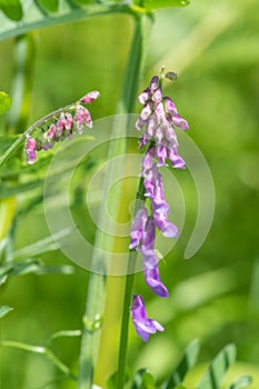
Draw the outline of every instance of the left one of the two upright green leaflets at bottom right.
<instances>
[{"instance_id":1,"label":"left one of the two upright green leaflets at bottom right","mask_svg":"<svg viewBox=\"0 0 259 389\"><path fill-rule=\"evenodd\" d=\"M199 341L192 340L183 351L183 355L169 378L162 383L161 389L172 389L181 383L188 371L196 365L199 356Z\"/></svg>"}]
</instances>

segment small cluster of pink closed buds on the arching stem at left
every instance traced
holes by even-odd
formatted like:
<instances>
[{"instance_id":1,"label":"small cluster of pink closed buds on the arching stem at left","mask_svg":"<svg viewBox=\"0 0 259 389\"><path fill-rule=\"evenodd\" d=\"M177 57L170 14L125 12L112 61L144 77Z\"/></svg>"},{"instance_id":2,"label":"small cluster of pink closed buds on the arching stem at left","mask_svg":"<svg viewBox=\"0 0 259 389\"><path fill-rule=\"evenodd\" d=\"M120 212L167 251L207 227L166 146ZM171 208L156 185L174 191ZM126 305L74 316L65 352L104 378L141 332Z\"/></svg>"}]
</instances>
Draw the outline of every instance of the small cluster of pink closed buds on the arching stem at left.
<instances>
[{"instance_id":1,"label":"small cluster of pink closed buds on the arching stem at left","mask_svg":"<svg viewBox=\"0 0 259 389\"><path fill-rule=\"evenodd\" d=\"M83 96L76 104L69 107L69 109L74 111L73 114L69 111L61 111L58 118L54 116L48 130L42 137L38 137L37 140L28 136L26 142L27 162L29 164L34 163L36 151L52 149L54 142L71 139L74 129L81 134L84 126L92 128L90 112L82 104L90 103L99 98L99 96L100 93L98 91L91 91Z\"/></svg>"}]
</instances>

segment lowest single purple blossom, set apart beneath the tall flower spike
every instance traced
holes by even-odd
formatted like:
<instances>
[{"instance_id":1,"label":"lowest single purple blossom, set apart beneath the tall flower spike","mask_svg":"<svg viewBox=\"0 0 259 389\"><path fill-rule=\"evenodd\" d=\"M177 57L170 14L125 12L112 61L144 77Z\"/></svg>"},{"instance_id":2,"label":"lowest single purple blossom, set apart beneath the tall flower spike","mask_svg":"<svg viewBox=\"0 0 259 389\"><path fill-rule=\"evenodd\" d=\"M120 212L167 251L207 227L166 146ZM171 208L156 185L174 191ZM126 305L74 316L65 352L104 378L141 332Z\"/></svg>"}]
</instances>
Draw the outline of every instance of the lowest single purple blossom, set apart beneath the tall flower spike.
<instances>
[{"instance_id":1,"label":"lowest single purple blossom, set apart beneath the tall flower spike","mask_svg":"<svg viewBox=\"0 0 259 389\"><path fill-rule=\"evenodd\" d=\"M143 341L149 339L150 333L163 331L163 327L157 320L148 319L141 296L133 296L131 315L136 331Z\"/></svg>"}]
</instances>

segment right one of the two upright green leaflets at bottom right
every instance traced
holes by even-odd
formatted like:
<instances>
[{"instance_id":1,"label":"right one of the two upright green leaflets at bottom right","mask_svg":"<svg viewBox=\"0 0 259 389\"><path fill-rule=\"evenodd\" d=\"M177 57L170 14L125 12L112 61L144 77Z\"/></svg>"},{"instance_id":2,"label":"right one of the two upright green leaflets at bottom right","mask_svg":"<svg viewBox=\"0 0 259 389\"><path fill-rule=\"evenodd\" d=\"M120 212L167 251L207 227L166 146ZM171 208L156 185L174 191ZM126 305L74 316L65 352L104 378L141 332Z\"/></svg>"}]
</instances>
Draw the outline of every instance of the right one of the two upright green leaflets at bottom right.
<instances>
[{"instance_id":1,"label":"right one of the two upright green leaflets at bottom right","mask_svg":"<svg viewBox=\"0 0 259 389\"><path fill-rule=\"evenodd\" d=\"M227 345L212 360L208 370L197 385L197 389L219 389L229 367L235 362L237 349Z\"/></svg>"}]
</instances>

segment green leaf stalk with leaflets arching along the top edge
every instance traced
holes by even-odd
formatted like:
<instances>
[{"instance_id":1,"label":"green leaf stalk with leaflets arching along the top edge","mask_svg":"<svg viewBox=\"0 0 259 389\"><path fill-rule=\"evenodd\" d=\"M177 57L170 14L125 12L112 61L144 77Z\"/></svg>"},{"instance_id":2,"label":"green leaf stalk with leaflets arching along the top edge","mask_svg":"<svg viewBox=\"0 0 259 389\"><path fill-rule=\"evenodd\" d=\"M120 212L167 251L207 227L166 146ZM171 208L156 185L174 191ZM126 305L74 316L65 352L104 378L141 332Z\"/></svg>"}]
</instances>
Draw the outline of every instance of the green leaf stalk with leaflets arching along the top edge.
<instances>
[{"instance_id":1,"label":"green leaf stalk with leaflets arching along the top edge","mask_svg":"<svg viewBox=\"0 0 259 389\"><path fill-rule=\"evenodd\" d=\"M138 3L138 6L147 11L159 8L185 7L188 4L189 0L146 0ZM138 13L136 8L127 6L123 2L120 3L117 0L66 0L62 2L58 0L34 0L27 8L27 18L22 18L22 8L19 0L0 0L0 8L2 8L6 17L19 21L19 24L13 26L8 19L3 19L0 26L0 40L19 36L36 28L58 24L64 21L81 20L99 14L118 12L126 12L128 14Z\"/></svg>"}]
</instances>

